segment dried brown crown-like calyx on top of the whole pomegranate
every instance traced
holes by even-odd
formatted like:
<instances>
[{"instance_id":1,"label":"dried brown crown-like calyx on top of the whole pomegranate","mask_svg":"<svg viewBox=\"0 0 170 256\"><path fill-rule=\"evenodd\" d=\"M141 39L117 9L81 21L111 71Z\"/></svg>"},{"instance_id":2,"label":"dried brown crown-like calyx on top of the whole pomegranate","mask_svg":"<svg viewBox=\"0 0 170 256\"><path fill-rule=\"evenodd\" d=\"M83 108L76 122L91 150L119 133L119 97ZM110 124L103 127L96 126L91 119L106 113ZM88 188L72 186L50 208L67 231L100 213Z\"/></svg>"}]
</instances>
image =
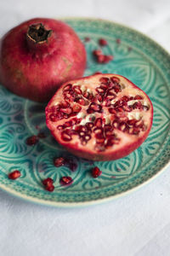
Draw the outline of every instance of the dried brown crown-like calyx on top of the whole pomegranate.
<instances>
[{"instance_id":1,"label":"dried brown crown-like calyx on top of the whole pomegranate","mask_svg":"<svg viewBox=\"0 0 170 256\"><path fill-rule=\"evenodd\" d=\"M47 43L52 34L52 30L46 30L42 23L29 26L26 36L35 44Z\"/></svg>"}]
</instances>

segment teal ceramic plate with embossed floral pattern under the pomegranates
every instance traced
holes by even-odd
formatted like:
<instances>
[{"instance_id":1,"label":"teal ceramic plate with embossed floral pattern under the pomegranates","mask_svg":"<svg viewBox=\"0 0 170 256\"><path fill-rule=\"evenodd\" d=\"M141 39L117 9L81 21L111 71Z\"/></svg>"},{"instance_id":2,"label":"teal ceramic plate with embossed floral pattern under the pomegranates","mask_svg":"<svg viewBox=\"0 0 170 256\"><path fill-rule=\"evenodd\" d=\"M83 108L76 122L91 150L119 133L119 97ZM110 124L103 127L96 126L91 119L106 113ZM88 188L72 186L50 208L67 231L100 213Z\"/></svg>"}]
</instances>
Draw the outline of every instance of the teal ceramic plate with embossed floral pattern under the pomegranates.
<instances>
[{"instance_id":1,"label":"teal ceramic plate with embossed floral pattern under the pomegranates","mask_svg":"<svg viewBox=\"0 0 170 256\"><path fill-rule=\"evenodd\" d=\"M44 105L15 96L0 87L0 187L13 195L42 204L71 207L106 201L139 187L160 172L170 159L170 55L143 34L106 20L65 19L85 42L88 67L85 75L96 71L118 73L133 81L149 96L154 106L154 121L147 140L121 160L92 162L79 159L54 142L46 125ZM98 64L92 51L99 49L99 38L109 45L103 48L114 61ZM118 40L117 40L118 39ZM26 138L38 131L46 138L28 147ZM73 160L77 170L56 168L55 156ZM93 178L90 170L99 166L102 175ZM21 177L9 180L8 173L18 169ZM71 176L74 182L65 188L59 178ZM42 179L54 179L54 192L43 189Z\"/></svg>"}]
</instances>

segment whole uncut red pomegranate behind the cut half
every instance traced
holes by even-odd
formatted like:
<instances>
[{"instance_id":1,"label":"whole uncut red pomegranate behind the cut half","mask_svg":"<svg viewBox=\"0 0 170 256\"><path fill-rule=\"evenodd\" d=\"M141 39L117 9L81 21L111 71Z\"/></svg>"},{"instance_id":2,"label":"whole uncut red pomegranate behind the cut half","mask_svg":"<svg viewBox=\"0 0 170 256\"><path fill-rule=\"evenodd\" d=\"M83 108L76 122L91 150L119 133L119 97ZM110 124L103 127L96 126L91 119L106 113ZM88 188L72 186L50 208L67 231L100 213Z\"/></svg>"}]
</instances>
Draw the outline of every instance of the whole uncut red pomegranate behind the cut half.
<instances>
[{"instance_id":1,"label":"whole uncut red pomegranate behind the cut half","mask_svg":"<svg viewBox=\"0 0 170 256\"><path fill-rule=\"evenodd\" d=\"M60 84L82 77L85 67L82 42L59 20L27 20L0 42L0 82L33 101L47 102Z\"/></svg>"}]
</instances>

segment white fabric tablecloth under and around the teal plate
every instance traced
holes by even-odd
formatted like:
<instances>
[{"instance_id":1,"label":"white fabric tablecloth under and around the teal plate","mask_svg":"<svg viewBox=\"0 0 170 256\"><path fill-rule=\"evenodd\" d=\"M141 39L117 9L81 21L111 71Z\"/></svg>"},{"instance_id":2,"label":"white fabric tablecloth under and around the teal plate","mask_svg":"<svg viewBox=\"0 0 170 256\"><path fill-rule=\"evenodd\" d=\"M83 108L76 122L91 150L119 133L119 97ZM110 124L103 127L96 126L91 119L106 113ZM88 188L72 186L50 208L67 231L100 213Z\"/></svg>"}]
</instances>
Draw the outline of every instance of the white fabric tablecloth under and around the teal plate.
<instances>
[{"instance_id":1,"label":"white fabric tablecloth under and around the teal plate","mask_svg":"<svg viewBox=\"0 0 170 256\"><path fill-rule=\"evenodd\" d=\"M36 16L115 20L170 51L169 0L1 0L0 37ZM141 189L102 205L42 207L0 190L1 256L170 255L170 166Z\"/></svg>"}]
</instances>

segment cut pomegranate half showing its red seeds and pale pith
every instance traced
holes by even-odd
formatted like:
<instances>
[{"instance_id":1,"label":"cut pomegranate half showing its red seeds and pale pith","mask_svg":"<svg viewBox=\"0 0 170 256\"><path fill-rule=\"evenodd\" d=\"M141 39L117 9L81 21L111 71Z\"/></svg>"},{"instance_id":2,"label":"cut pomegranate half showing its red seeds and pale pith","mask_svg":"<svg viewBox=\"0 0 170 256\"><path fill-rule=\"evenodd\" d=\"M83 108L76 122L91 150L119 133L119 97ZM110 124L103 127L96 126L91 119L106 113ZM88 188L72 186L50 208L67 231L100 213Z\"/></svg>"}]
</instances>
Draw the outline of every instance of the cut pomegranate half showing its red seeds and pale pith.
<instances>
[{"instance_id":1,"label":"cut pomegranate half showing its red seeds and pale pith","mask_svg":"<svg viewBox=\"0 0 170 256\"><path fill-rule=\"evenodd\" d=\"M95 74L63 84L48 102L54 138L88 160L116 160L139 148L150 132L150 98L117 74Z\"/></svg>"}]
</instances>

